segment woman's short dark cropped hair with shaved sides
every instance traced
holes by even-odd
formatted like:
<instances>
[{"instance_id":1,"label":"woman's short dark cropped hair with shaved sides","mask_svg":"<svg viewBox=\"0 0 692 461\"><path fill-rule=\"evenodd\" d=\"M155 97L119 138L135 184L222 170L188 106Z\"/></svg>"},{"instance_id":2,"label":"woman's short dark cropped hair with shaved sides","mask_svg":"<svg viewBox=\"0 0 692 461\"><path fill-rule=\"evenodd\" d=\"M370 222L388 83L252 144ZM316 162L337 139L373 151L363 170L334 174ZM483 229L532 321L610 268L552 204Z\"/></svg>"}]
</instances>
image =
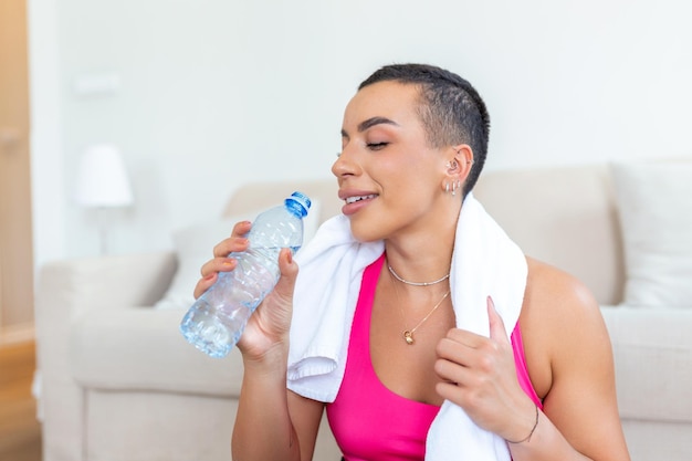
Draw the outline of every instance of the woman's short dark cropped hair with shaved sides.
<instances>
[{"instance_id":1,"label":"woman's short dark cropped hair with shaved sides","mask_svg":"<svg viewBox=\"0 0 692 461\"><path fill-rule=\"evenodd\" d=\"M427 64L386 65L363 81L358 90L387 81L420 87L418 113L431 147L471 147L473 166L463 189L464 196L469 193L485 164L490 136L490 115L479 93L461 76Z\"/></svg>"}]
</instances>

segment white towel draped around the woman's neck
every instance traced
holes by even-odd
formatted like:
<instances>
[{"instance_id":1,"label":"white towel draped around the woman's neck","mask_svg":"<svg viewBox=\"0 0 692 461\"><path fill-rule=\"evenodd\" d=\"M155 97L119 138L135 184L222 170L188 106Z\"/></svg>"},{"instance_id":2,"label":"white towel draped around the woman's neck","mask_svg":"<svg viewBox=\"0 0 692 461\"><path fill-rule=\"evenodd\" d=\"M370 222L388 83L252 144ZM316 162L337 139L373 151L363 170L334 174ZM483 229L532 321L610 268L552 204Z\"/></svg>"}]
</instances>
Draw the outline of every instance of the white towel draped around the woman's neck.
<instances>
[{"instance_id":1,"label":"white towel draped around the woman's neck","mask_svg":"<svg viewBox=\"0 0 692 461\"><path fill-rule=\"evenodd\" d=\"M344 370L350 325L366 266L382 242L359 243L348 219L332 218L296 254L289 388L319 401L334 401ZM486 297L493 297L505 327L518 319L526 287L526 260L514 242L470 193L454 242L450 289L457 326L487 336ZM508 333L507 333L508 335ZM508 461L506 442L473 423L463 409L444 401L428 432L426 460Z\"/></svg>"}]
</instances>

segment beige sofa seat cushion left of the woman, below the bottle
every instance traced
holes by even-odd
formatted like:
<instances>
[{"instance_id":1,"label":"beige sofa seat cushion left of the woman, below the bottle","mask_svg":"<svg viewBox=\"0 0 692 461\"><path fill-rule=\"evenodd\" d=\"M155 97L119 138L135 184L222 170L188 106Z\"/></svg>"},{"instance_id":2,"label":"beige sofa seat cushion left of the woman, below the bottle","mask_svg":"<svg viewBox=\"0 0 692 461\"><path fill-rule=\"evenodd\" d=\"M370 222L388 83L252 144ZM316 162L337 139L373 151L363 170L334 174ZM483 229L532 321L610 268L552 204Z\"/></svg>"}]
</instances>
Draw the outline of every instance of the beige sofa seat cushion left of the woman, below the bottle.
<instances>
[{"instance_id":1,"label":"beige sofa seat cushion left of the woman, below the bottle","mask_svg":"<svg viewBox=\"0 0 692 461\"><path fill-rule=\"evenodd\" d=\"M238 398L238 348L224 358L197 350L178 329L184 315L185 310L151 307L90 310L71 327L72 377L84 388Z\"/></svg>"}]
</instances>

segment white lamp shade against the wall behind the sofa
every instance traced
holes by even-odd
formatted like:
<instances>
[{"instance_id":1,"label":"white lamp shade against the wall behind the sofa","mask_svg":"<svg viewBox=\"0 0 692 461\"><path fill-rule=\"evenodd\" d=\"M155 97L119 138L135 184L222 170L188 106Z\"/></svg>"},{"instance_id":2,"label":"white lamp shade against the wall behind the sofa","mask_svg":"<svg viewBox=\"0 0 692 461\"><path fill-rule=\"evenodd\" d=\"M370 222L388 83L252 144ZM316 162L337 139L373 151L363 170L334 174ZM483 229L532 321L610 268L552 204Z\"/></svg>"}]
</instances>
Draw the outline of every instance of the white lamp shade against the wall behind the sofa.
<instances>
[{"instance_id":1,"label":"white lamp shade against the wall behind the sofa","mask_svg":"<svg viewBox=\"0 0 692 461\"><path fill-rule=\"evenodd\" d=\"M90 146L80 163L75 200L83 207L126 207L133 191L125 164L115 146Z\"/></svg>"}]
</instances>

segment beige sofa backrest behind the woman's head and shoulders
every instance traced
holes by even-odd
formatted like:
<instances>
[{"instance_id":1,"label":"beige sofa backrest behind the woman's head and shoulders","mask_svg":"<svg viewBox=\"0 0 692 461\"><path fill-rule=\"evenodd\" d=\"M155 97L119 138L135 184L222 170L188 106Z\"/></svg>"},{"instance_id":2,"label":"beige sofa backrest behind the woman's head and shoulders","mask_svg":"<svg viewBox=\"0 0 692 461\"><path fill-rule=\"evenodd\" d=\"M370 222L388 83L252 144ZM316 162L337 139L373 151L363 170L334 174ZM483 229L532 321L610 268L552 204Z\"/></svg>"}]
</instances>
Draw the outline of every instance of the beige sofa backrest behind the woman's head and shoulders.
<instances>
[{"instance_id":1,"label":"beige sofa backrest behind the woman's head and shoulders","mask_svg":"<svg viewBox=\"0 0 692 461\"><path fill-rule=\"evenodd\" d=\"M241 186L223 216L271 207L294 190L319 202L319 222L340 212L336 180L316 179ZM474 195L527 255L577 276L600 304L621 301L622 244L607 165L489 170Z\"/></svg>"}]
</instances>

